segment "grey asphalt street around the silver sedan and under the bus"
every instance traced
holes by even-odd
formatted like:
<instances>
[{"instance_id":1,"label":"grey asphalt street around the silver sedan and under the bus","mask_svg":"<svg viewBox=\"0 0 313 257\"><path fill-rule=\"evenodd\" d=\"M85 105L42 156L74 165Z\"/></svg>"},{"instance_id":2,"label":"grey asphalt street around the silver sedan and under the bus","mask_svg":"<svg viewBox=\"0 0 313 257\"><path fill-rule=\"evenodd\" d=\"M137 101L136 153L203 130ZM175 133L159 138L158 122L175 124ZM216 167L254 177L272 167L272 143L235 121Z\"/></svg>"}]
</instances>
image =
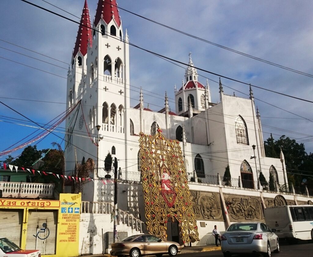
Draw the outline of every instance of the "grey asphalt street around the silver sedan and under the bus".
<instances>
[{"instance_id":1,"label":"grey asphalt street around the silver sedan and under the bus","mask_svg":"<svg viewBox=\"0 0 313 257\"><path fill-rule=\"evenodd\" d=\"M313 243L299 243L293 245L286 245L283 244L280 246L280 253L279 254L272 254L272 257L289 257L289 256L312 256L313 252ZM166 255L165 255L166 256ZM190 253L186 254L179 254L178 256L191 256ZM202 256L216 256L216 257L223 257L221 251L211 251L211 252L196 252L192 253L192 257L202 257ZM242 255L233 255L233 256L242 256ZM245 256L252 256L252 255L245 255Z\"/></svg>"}]
</instances>

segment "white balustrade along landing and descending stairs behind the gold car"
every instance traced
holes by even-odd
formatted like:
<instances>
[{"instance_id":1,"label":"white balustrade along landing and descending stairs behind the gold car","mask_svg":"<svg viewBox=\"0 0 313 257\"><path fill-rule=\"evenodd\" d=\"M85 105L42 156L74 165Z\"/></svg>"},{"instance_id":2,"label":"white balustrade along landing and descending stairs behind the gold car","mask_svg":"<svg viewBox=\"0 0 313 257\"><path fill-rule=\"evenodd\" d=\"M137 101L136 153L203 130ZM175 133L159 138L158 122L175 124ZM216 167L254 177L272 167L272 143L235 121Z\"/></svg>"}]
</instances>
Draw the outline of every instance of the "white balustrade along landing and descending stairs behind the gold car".
<instances>
[{"instance_id":1,"label":"white balustrade along landing and descending stairs behind the gold car","mask_svg":"<svg viewBox=\"0 0 313 257\"><path fill-rule=\"evenodd\" d=\"M113 212L113 204L110 202L86 202L82 201L80 204L81 213L97 213L97 214L111 214ZM136 229L142 233L144 223L135 218L133 215L124 212L120 209L117 210L117 218L119 222L127 224L127 226Z\"/></svg>"}]
</instances>

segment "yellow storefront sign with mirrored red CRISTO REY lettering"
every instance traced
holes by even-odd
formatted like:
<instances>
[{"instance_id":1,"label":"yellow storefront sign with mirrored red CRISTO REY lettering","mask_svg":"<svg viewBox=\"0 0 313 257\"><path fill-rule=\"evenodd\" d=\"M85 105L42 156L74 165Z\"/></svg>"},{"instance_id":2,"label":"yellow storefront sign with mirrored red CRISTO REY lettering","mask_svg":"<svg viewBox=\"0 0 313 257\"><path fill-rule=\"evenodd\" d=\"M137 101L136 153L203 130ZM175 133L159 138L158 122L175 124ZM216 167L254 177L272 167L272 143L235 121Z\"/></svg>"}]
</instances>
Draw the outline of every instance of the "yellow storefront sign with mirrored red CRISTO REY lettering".
<instances>
[{"instance_id":1,"label":"yellow storefront sign with mirrored red CRISTO REY lettering","mask_svg":"<svg viewBox=\"0 0 313 257\"><path fill-rule=\"evenodd\" d=\"M60 201L0 199L0 207L60 207Z\"/></svg>"}]
</instances>

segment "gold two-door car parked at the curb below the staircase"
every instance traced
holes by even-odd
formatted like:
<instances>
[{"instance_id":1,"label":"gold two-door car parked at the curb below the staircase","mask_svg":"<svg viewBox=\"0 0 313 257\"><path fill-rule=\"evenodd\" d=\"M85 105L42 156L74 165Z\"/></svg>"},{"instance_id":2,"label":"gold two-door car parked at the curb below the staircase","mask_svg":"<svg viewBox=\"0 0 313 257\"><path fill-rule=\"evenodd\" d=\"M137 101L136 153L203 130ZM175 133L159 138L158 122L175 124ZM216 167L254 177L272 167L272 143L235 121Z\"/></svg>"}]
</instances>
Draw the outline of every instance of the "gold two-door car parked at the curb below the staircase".
<instances>
[{"instance_id":1,"label":"gold two-door car parked at the curb below the staircase","mask_svg":"<svg viewBox=\"0 0 313 257\"><path fill-rule=\"evenodd\" d=\"M150 234L130 236L119 243L111 244L111 248L110 254L118 257L139 257L143 255L161 257L163 254L175 256L182 250L178 243L164 241Z\"/></svg>"}]
</instances>

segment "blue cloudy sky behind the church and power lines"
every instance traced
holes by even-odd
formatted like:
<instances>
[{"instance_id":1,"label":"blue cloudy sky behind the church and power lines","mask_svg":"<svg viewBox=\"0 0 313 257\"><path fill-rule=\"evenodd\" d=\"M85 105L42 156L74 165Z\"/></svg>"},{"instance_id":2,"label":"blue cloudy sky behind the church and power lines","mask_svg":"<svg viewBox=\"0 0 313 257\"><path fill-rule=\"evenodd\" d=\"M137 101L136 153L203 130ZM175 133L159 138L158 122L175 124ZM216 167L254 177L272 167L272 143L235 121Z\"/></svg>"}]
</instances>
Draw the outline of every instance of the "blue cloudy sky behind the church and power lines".
<instances>
[{"instance_id":1,"label":"blue cloudy sky behind the church and power lines","mask_svg":"<svg viewBox=\"0 0 313 257\"><path fill-rule=\"evenodd\" d=\"M30 0L30 2L49 8L69 18L79 20L44 3L44 1ZM81 16L81 10L84 5L84 0L49 0L48 2L78 17ZM97 2L97 0L88 1L91 19L95 15ZM2 15L0 19L2 26L0 28L0 39L51 56L64 63L37 55L3 41L0 41L0 47L30 55L61 67L45 64L3 48L0 48L0 56L66 77L68 68L66 63L69 63L71 60L78 24L59 18L19 0L3 0L1 4ZM309 74L313 73L312 1L120 0L118 4L121 8L214 43L295 70ZM195 66L259 87L312 100L312 77L286 71L192 39L126 13L123 10L120 10L120 15L123 29L127 29L131 43L186 63L188 61L188 53L191 51ZM66 79L2 58L0 58L0 65L2 70L0 97L4 97L0 98L1 101L36 122L47 123L64 112ZM174 84L177 87L181 86L184 69L142 50L130 47L130 66L130 84L150 91L150 93L145 92L146 94L144 95L145 107L149 103L149 107L157 111L161 109L158 106L163 106L164 104L163 100L147 94L153 95L157 93L164 95L165 91L167 91L168 96L174 98ZM199 75L218 81L217 76L198 72ZM205 84L205 80L205 78L199 77L199 81L203 84ZM209 83L212 101L216 102L219 98L218 84L213 81L209 81ZM246 85L227 79L222 79L222 83L241 92L249 93L249 87ZM278 138L278 135L285 134L297 139L297 142L302 142L300 138L313 135L312 103L280 96L257 88L253 90L256 98L281 108L275 108L259 100L255 101L264 125L264 139L269 137L270 132L277 134L275 138ZM233 92L234 90L224 87L225 94L232 95ZM246 97L236 91L235 94L236 96ZM131 97L133 98L131 106L135 106L139 95L137 92L131 91ZM174 100L171 99L170 101L171 109L174 110ZM282 109L311 119L311 121L299 118ZM18 116L18 114L3 106L0 106L0 115L23 119L23 117ZM0 117L0 120L3 121L5 119ZM64 124L61 127L64 127ZM0 151L16 143L34 130L34 128L1 122ZM64 134L59 135L62 137ZM313 137L306 139L310 140ZM54 135L49 135L38 144L38 149L48 148L51 142L56 140L58 138ZM307 152L313 151L312 142L306 141L304 143ZM12 153L12 155L18 155L18 153ZM0 157L0 160L4 158L6 156Z\"/></svg>"}]
</instances>

